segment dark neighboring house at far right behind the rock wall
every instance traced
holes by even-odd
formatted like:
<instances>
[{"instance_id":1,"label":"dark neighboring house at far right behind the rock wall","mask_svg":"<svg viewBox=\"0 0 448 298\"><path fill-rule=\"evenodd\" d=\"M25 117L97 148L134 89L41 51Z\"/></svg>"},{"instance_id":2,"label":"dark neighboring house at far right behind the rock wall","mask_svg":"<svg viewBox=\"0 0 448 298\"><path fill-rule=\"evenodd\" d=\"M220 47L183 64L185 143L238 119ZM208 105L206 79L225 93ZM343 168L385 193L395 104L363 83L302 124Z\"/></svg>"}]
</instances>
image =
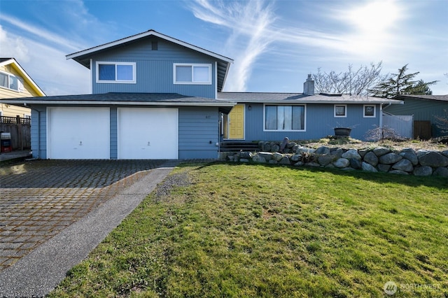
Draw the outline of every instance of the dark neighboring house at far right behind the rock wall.
<instances>
[{"instance_id":1,"label":"dark neighboring house at far right behind the rock wall","mask_svg":"<svg viewBox=\"0 0 448 298\"><path fill-rule=\"evenodd\" d=\"M448 95L398 95L394 99L405 104L386 106L384 111L393 115L412 115L414 139L447 136L440 125L437 127L437 117L448 121Z\"/></svg>"}]
</instances>

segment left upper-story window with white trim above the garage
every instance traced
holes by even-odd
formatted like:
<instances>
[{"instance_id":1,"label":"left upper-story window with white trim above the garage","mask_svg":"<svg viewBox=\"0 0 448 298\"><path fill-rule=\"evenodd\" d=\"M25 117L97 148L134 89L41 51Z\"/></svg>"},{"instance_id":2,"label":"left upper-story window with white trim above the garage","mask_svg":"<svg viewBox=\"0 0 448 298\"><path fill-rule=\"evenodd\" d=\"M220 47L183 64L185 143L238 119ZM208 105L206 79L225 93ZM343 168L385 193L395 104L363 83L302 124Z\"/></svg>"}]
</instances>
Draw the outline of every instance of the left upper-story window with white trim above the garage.
<instances>
[{"instance_id":1,"label":"left upper-story window with white trim above the garage","mask_svg":"<svg viewBox=\"0 0 448 298\"><path fill-rule=\"evenodd\" d=\"M135 62L97 62L97 83L135 82Z\"/></svg>"}]
</instances>

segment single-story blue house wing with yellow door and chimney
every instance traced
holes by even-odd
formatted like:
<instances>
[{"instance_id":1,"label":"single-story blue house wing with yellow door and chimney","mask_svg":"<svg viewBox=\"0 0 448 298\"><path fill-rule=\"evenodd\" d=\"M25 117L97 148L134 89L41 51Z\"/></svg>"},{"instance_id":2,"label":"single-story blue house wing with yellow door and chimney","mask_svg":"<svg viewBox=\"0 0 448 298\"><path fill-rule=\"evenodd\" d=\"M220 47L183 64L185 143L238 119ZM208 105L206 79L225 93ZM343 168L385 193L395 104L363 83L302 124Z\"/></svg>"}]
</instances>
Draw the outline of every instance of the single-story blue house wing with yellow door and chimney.
<instances>
[{"instance_id":1,"label":"single-story blue house wing with yellow door and chimney","mask_svg":"<svg viewBox=\"0 0 448 298\"><path fill-rule=\"evenodd\" d=\"M235 102L223 115L223 139L281 141L320 139L334 128L351 128L351 137L365 140L370 129L382 127L382 108L402 104L393 99L314 94L308 76L304 93L219 92L218 99Z\"/></svg>"}]
</instances>

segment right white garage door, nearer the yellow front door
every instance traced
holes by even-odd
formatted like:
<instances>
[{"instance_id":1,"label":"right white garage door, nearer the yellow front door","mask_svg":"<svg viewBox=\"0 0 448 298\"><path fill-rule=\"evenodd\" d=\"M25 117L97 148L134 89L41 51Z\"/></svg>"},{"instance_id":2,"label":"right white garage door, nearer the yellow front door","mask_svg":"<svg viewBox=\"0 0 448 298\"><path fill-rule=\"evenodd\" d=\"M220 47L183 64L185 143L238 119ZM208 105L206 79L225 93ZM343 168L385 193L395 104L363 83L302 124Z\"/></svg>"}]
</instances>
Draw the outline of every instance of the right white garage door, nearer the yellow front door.
<instances>
[{"instance_id":1,"label":"right white garage door, nearer the yellow front door","mask_svg":"<svg viewBox=\"0 0 448 298\"><path fill-rule=\"evenodd\" d=\"M118 108L118 159L177 159L177 108Z\"/></svg>"}]
</instances>

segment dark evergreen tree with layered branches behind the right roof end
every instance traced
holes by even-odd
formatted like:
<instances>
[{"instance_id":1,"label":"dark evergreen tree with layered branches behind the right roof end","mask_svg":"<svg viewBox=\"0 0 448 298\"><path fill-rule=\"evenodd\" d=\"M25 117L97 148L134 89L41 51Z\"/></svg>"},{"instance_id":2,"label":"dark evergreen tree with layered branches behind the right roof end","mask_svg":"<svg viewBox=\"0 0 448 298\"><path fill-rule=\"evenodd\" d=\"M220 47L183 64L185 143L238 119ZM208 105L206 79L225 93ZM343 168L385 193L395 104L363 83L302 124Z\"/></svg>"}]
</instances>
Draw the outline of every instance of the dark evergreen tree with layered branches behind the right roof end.
<instances>
[{"instance_id":1,"label":"dark evergreen tree with layered branches behind the right roof end","mask_svg":"<svg viewBox=\"0 0 448 298\"><path fill-rule=\"evenodd\" d=\"M399 94L432 94L430 85L437 83L437 80L425 83L423 80L414 80L420 72L406 73L407 64L398 69L398 73L392 73L392 76L384 82L376 85L370 92L374 97L392 98Z\"/></svg>"}]
</instances>

